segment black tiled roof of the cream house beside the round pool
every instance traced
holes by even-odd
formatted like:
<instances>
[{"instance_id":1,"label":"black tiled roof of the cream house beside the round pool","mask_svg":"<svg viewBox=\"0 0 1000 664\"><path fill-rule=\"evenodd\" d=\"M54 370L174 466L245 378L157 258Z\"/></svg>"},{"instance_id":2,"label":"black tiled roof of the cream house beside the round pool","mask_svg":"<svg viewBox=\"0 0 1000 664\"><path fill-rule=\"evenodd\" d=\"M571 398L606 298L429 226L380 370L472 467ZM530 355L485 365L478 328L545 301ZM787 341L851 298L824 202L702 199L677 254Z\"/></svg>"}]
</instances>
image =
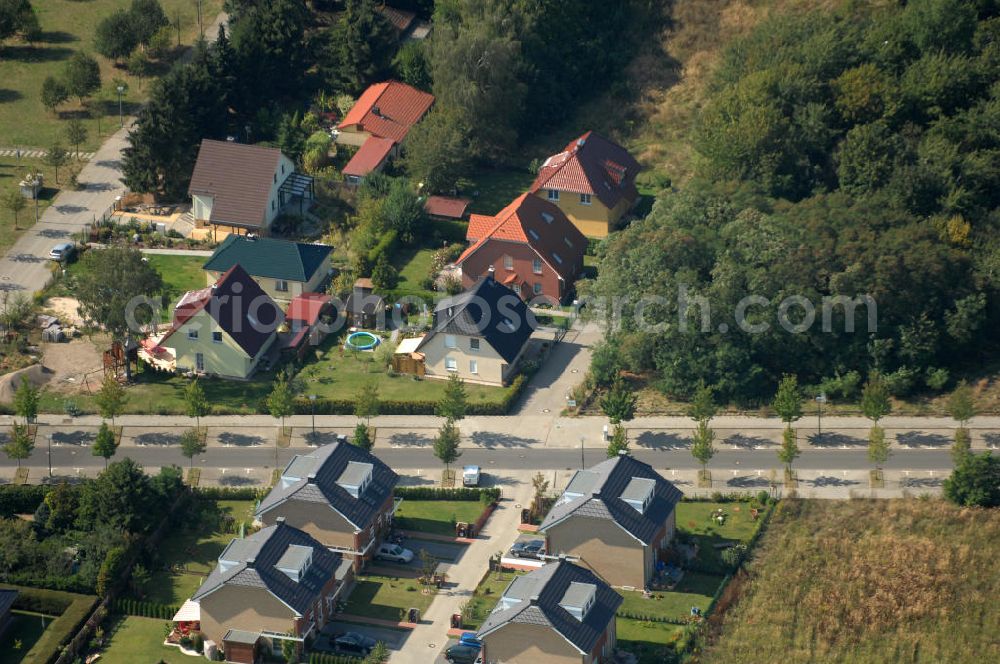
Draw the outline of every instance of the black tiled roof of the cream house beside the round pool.
<instances>
[{"instance_id":1,"label":"black tiled roof of the cream house beside the round pool","mask_svg":"<svg viewBox=\"0 0 1000 664\"><path fill-rule=\"evenodd\" d=\"M514 291L486 277L464 293L438 303L434 327L420 346L442 332L481 337L500 357L513 362L534 331L533 322L527 305Z\"/></svg>"}]
</instances>

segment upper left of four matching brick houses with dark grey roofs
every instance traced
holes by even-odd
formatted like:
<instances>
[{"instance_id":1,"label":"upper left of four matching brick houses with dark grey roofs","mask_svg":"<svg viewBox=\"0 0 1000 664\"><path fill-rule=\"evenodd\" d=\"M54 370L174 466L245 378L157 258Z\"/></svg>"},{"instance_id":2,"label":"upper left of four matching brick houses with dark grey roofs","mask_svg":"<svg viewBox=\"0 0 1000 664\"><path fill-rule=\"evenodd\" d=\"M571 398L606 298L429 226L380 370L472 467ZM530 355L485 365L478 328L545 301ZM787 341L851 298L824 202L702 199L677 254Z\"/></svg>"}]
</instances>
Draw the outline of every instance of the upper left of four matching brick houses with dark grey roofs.
<instances>
[{"instance_id":1,"label":"upper left of four matching brick houses with dark grey roofs","mask_svg":"<svg viewBox=\"0 0 1000 664\"><path fill-rule=\"evenodd\" d=\"M256 516L265 525L284 518L361 569L392 522L398 479L360 447L330 443L293 457Z\"/></svg>"}]
</instances>

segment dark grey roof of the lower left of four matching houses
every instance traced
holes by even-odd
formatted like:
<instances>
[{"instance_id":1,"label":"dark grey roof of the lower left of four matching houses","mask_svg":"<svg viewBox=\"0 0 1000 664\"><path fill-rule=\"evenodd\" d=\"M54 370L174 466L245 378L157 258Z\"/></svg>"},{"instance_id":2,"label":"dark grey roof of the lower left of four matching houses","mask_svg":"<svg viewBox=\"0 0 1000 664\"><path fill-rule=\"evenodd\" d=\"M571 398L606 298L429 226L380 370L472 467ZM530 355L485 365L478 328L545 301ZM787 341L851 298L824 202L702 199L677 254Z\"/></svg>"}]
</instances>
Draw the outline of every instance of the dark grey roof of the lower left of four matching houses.
<instances>
[{"instance_id":1,"label":"dark grey roof of the lower left of four matching houses","mask_svg":"<svg viewBox=\"0 0 1000 664\"><path fill-rule=\"evenodd\" d=\"M312 549L312 563L297 582L276 567L290 545ZM300 615L320 596L323 586L334 578L341 560L339 553L284 523L264 528L242 540L233 540L219 558L227 564L216 565L191 599L199 601L223 585L265 588Z\"/></svg>"}]
</instances>

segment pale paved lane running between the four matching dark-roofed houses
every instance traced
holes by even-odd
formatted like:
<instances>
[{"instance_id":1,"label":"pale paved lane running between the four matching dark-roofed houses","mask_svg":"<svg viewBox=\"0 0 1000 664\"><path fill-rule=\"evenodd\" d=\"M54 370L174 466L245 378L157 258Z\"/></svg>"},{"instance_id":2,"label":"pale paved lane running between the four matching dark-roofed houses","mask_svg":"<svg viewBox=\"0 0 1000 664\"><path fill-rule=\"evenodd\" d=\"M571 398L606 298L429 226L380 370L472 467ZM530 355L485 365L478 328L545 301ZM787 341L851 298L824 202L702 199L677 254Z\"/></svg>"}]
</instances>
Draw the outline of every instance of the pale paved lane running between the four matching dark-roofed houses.
<instances>
[{"instance_id":1,"label":"pale paved lane running between the four matching dark-roofed houses","mask_svg":"<svg viewBox=\"0 0 1000 664\"><path fill-rule=\"evenodd\" d=\"M506 551L517 539L517 524L521 520L521 510L517 505L525 504L531 497L531 491L530 481L519 481L513 487L504 487L504 500L493 512L480 536L466 548L461 562L451 567L448 586L434 598L420 624L406 639L406 646L392 654L392 664L426 664L434 661L447 647L452 614L460 613L462 605L472 597L489 569L490 556L497 551Z\"/></svg>"}]
</instances>

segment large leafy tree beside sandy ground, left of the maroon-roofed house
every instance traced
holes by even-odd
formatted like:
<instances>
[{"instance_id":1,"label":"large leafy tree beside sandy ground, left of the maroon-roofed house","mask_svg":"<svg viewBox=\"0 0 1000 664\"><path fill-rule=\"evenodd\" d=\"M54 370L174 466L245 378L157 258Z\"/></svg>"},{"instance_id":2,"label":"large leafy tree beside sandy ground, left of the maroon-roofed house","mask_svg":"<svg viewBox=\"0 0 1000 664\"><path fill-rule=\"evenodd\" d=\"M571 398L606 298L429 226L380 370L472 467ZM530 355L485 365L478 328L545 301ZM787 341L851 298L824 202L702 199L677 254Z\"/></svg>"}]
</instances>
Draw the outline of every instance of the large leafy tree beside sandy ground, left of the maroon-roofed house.
<instances>
[{"instance_id":1,"label":"large leafy tree beside sandy ground, left of the maroon-roofed house","mask_svg":"<svg viewBox=\"0 0 1000 664\"><path fill-rule=\"evenodd\" d=\"M128 347L137 331L131 324L148 325L154 314L158 315L163 292L159 272L143 260L141 252L128 247L88 251L80 259L80 267L76 292L84 321L103 327L112 339ZM143 298L148 305L130 306ZM126 365L125 377L132 379L130 365Z\"/></svg>"}]
</instances>

